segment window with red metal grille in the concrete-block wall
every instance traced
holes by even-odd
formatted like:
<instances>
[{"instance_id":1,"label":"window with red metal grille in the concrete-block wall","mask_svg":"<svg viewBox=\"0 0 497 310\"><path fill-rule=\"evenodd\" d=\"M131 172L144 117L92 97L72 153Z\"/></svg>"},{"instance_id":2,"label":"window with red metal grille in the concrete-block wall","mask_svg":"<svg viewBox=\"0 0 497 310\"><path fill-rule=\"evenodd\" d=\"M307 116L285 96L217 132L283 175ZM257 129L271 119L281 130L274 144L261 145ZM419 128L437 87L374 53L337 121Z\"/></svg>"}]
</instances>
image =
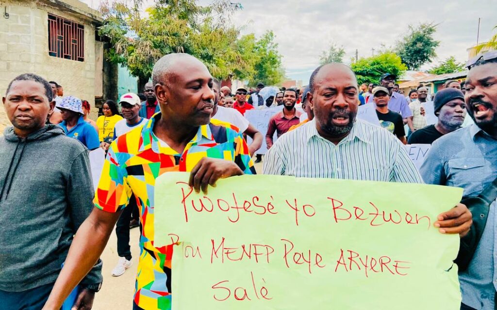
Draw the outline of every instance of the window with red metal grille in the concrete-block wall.
<instances>
[{"instance_id":1,"label":"window with red metal grille in the concrete-block wall","mask_svg":"<svg viewBox=\"0 0 497 310\"><path fill-rule=\"evenodd\" d=\"M48 14L48 55L84 61L84 26Z\"/></svg>"}]
</instances>

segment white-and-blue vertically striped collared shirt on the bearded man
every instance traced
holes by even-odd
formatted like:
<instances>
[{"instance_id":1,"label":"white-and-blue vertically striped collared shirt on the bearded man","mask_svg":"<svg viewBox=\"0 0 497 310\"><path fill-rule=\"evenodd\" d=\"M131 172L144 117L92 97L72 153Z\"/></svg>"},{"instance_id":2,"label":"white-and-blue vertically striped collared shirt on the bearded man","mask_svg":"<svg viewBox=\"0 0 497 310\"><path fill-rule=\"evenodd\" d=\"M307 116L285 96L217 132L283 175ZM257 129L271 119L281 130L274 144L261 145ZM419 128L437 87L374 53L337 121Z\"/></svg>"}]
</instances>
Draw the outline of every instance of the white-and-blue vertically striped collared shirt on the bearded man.
<instances>
[{"instance_id":1,"label":"white-and-blue vertically striped collared shirt on the bearded man","mask_svg":"<svg viewBox=\"0 0 497 310\"><path fill-rule=\"evenodd\" d=\"M264 174L302 178L423 183L404 145L389 131L356 120L337 145L313 120L282 135L264 159Z\"/></svg>"}]
</instances>

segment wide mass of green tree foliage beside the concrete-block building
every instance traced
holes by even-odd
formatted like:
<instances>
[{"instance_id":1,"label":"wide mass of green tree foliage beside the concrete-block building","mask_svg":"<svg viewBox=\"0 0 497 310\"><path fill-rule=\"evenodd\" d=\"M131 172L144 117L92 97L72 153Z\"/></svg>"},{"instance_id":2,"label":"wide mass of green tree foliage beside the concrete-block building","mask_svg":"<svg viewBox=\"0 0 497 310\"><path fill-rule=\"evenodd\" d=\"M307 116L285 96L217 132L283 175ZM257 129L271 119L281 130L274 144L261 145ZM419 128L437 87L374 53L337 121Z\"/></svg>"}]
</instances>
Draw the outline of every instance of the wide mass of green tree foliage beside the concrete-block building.
<instances>
[{"instance_id":1,"label":"wide mass of green tree foliage beside the concrete-block building","mask_svg":"<svg viewBox=\"0 0 497 310\"><path fill-rule=\"evenodd\" d=\"M272 32L260 40L240 32L227 18L239 9L229 0L201 6L196 0L156 0L143 11L143 0L116 0L101 7L105 23L99 34L110 39L105 51L111 62L125 65L140 80L151 77L155 62L170 53L187 53L200 59L218 79L279 81L281 56Z\"/></svg>"}]
</instances>

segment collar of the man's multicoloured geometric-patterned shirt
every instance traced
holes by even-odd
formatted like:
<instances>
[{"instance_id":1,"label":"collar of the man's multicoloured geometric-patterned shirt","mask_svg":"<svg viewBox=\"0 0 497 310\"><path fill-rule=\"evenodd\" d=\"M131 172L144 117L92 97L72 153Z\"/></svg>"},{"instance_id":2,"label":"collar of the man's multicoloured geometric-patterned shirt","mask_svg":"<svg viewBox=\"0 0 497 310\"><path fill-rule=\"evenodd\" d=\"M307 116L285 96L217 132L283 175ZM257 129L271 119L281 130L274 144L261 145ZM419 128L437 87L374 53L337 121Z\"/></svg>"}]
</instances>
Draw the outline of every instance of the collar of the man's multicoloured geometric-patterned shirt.
<instances>
[{"instance_id":1,"label":"collar of the man's multicoloured geometric-patterned shirt","mask_svg":"<svg viewBox=\"0 0 497 310\"><path fill-rule=\"evenodd\" d=\"M153 134L153 129L154 129L154 124L156 120L159 120L161 118L161 113L158 112L150 118L150 120L143 126L142 132L141 132L141 139L140 139L140 146L139 146L139 151L145 151L148 149L152 149L156 153L160 153L159 149L159 140ZM198 128L197 133L193 137L193 139L188 142L188 144L185 147L185 151L189 149L192 145L199 144L203 139L207 139L208 141L214 141L214 136L212 135L211 128L210 126L207 125L201 125ZM166 152L168 155L174 155L176 152L171 151ZM174 153L174 154L173 154Z\"/></svg>"}]
</instances>

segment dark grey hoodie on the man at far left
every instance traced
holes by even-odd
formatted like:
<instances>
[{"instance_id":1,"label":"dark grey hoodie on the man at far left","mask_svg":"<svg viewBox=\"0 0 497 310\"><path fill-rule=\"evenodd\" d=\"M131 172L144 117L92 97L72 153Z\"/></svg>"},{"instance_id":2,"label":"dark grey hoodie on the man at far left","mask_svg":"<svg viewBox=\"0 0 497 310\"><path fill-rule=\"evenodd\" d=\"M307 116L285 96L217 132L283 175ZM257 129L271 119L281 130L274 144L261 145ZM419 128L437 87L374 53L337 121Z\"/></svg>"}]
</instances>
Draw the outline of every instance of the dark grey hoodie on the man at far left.
<instances>
[{"instance_id":1,"label":"dark grey hoodie on the man at far left","mask_svg":"<svg viewBox=\"0 0 497 310\"><path fill-rule=\"evenodd\" d=\"M0 136L0 290L55 283L92 209L88 150L57 125ZM82 284L102 282L101 261Z\"/></svg>"}]
</instances>

